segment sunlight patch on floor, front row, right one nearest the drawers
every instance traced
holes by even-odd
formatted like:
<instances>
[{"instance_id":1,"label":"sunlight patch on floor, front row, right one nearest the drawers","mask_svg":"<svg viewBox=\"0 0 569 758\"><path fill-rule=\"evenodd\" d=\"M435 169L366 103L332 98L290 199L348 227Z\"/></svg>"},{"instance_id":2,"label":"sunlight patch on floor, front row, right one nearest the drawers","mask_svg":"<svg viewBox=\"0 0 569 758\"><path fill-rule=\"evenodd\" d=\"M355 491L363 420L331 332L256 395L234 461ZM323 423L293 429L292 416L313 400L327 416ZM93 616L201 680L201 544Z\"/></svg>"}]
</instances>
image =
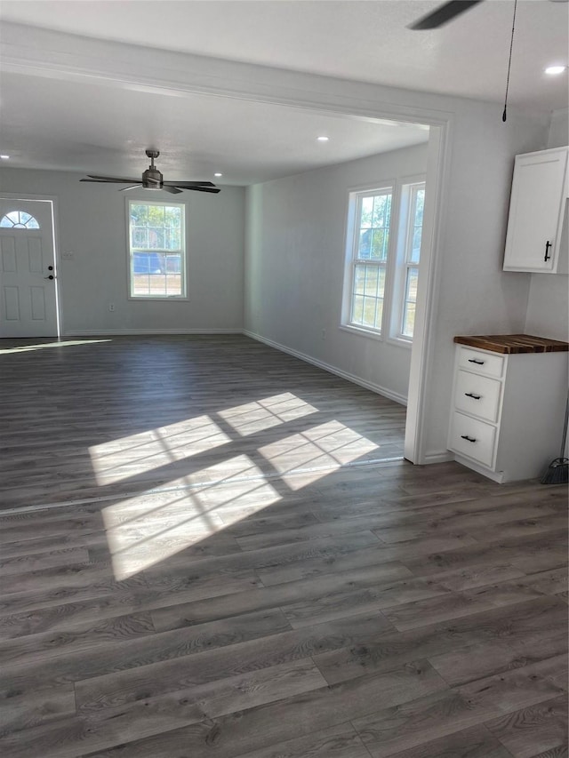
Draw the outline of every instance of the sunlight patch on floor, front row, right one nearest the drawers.
<instances>
[{"instance_id":1,"label":"sunlight patch on floor, front row, right one nearest the drawers","mask_svg":"<svg viewBox=\"0 0 569 758\"><path fill-rule=\"evenodd\" d=\"M287 486L297 490L379 447L340 421L329 421L265 445L259 448L259 452L282 476ZM309 474L306 469L310 468L316 470ZM301 480L296 476L287 476L297 469L305 471L306 475Z\"/></svg>"}]
</instances>

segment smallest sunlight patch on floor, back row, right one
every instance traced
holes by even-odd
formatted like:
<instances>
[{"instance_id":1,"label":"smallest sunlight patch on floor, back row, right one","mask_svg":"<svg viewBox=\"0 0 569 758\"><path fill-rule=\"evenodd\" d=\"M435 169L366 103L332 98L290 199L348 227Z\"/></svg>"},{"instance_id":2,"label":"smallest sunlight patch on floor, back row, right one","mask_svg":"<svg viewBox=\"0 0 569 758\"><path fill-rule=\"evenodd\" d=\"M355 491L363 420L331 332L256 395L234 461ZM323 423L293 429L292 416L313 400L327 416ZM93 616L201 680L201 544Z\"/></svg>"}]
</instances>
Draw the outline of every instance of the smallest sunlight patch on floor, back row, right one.
<instances>
[{"instance_id":1,"label":"smallest sunlight patch on floor, back row, right one","mask_svg":"<svg viewBox=\"0 0 569 758\"><path fill-rule=\"evenodd\" d=\"M305 403L292 392L284 392L282 395L236 405L235 408L219 411L218 415L239 435L246 436L317 412L317 408Z\"/></svg>"}]
</instances>

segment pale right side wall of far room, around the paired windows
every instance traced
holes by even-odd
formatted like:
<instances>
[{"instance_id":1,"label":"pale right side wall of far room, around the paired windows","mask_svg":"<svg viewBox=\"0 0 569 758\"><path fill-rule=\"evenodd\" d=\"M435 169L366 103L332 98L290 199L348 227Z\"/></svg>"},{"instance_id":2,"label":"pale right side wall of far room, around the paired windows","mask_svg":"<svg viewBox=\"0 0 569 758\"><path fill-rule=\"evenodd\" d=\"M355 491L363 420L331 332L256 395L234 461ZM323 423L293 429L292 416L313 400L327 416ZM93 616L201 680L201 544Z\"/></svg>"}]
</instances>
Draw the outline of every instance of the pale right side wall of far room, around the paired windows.
<instances>
[{"instance_id":1,"label":"pale right side wall of far room, around the paired windows","mask_svg":"<svg viewBox=\"0 0 569 758\"><path fill-rule=\"evenodd\" d=\"M409 347L340 329L345 225L350 189L426 169L425 143L249 188L246 330L404 400Z\"/></svg>"}]
</instances>

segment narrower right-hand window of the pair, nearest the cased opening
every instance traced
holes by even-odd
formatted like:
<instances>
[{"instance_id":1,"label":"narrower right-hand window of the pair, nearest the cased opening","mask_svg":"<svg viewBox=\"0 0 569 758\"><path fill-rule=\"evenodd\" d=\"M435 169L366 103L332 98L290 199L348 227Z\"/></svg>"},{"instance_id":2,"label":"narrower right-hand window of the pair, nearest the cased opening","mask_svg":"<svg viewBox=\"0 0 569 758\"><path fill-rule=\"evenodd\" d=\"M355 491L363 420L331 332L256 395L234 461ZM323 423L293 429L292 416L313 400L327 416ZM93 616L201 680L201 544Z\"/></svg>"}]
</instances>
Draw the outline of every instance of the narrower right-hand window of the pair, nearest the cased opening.
<instances>
[{"instance_id":1,"label":"narrower right-hand window of the pair, nearest the cased opening","mask_svg":"<svg viewBox=\"0 0 569 758\"><path fill-rule=\"evenodd\" d=\"M406 195L406 196L405 196ZM404 283L402 291L401 319L396 337L413 339L415 308L417 305L417 283L419 281L419 257L421 254L421 232L423 227L423 206L425 204L425 184L404 185L403 196L406 203ZM401 297L401 296L400 296Z\"/></svg>"}]
</instances>

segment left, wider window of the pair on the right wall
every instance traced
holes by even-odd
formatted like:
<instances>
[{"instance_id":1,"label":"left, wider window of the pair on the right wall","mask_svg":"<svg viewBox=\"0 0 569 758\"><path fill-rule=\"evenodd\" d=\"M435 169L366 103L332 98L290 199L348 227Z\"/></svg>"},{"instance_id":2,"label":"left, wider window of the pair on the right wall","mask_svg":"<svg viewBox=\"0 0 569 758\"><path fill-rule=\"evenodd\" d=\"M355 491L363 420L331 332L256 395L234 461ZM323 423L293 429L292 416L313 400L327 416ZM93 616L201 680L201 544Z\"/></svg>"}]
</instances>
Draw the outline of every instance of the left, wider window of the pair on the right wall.
<instances>
[{"instance_id":1,"label":"left, wider window of the pair on the right wall","mask_svg":"<svg viewBox=\"0 0 569 758\"><path fill-rule=\"evenodd\" d=\"M378 333L383 319L391 198L390 187L352 195L355 215L347 323Z\"/></svg>"}]
</instances>

